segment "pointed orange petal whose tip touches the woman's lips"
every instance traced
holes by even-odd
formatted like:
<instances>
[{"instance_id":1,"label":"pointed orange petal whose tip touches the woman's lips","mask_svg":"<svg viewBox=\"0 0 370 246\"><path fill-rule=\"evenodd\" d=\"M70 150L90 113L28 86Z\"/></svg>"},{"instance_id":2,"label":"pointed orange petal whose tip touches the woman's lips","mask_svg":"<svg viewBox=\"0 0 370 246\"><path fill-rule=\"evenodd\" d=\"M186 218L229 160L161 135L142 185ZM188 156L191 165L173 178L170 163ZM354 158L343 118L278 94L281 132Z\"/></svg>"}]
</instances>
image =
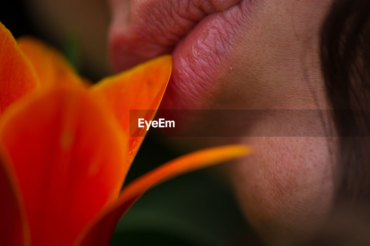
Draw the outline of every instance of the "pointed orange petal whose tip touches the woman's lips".
<instances>
[{"instance_id":1,"label":"pointed orange petal whose tip touches the woman's lips","mask_svg":"<svg viewBox=\"0 0 370 246\"><path fill-rule=\"evenodd\" d=\"M91 93L103 98L113 110L122 130L129 138L128 163L132 163L147 131L129 137L129 110L142 109L137 118L152 120L162 100L169 76L172 58L164 55L121 74L103 79L91 87ZM137 122L135 122L137 123ZM136 125L134 129L137 129Z\"/></svg>"}]
</instances>

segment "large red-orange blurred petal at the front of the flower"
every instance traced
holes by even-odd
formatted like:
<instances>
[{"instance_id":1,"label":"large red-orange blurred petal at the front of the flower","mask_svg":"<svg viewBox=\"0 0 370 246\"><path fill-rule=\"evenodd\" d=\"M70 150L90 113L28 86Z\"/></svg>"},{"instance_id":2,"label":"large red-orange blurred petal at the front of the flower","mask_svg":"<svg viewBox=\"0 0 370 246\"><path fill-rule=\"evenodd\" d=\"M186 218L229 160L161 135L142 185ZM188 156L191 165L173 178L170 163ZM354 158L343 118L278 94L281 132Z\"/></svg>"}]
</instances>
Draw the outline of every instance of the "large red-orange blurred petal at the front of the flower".
<instances>
[{"instance_id":1,"label":"large red-orange blurred petal at the front of the flower","mask_svg":"<svg viewBox=\"0 0 370 246\"><path fill-rule=\"evenodd\" d=\"M119 131L80 87L54 88L4 114L0 143L19 180L32 245L71 245L117 200L127 170Z\"/></svg>"}]
</instances>

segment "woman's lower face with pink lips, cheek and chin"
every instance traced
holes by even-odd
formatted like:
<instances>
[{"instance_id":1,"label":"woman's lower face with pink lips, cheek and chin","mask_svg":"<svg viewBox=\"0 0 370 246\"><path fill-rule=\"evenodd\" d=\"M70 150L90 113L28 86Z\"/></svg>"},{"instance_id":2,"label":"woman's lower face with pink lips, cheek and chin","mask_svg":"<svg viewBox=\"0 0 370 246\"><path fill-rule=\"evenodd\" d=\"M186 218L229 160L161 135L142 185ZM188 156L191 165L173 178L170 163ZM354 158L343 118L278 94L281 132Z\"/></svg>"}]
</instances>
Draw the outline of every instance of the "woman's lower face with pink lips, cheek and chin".
<instances>
[{"instance_id":1,"label":"woman's lower face with pink lips, cheek and chin","mask_svg":"<svg viewBox=\"0 0 370 246\"><path fill-rule=\"evenodd\" d=\"M111 61L122 70L173 52L162 109L330 109L319 45L331 3L111 0ZM291 134L323 131L331 120L321 120L277 113L245 123L248 136L261 137L238 138L255 154L229 165L230 177L245 216L270 242L306 235L330 209L334 140Z\"/></svg>"}]
</instances>

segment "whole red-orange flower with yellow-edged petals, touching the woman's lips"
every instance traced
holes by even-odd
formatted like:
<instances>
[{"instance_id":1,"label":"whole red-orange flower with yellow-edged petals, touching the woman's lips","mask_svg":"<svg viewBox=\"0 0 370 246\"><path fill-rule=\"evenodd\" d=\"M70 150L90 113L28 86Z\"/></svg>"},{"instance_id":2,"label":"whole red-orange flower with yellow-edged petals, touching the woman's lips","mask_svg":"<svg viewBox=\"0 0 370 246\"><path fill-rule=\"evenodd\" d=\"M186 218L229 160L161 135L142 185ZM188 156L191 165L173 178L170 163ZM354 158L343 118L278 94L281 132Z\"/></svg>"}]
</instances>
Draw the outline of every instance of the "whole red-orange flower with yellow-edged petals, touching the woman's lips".
<instances>
[{"instance_id":1,"label":"whole red-orange flower with yellow-edged petals, touching the woman's lips","mask_svg":"<svg viewBox=\"0 0 370 246\"><path fill-rule=\"evenodd\" d=\"M89 87L57 51L0 23L0 245L108 245L152 185L250 152L197 151L121 191L146 133L129 136L129 109L154 117L171 66L165 55Z\"/></svg>"}]
</instances>

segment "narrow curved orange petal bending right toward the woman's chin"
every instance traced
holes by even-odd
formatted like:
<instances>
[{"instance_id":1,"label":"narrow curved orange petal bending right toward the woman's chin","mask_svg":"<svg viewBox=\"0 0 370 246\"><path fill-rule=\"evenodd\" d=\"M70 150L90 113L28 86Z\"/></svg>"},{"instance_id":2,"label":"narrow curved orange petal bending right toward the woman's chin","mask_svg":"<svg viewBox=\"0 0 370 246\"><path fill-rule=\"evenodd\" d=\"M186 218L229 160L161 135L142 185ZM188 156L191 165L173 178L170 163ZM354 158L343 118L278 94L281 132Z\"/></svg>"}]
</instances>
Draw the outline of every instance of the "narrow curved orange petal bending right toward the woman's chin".
<instances>
[{"instance_id":1,"label":"narrow curved orange petal bending right toward the woman's chin","mask_svg":"<svg viewBox=\"0 0 370 246\"><path fill-rule=\"evenodd\" d=\"M121 192L118 201L100 213L74 245L108 245L120 217L150 187L170 178L210 165L231 160L251 153L248 146L230 145L208 148L176 158L144 174L128 184Z\"/></svg>"}]
</instances>

